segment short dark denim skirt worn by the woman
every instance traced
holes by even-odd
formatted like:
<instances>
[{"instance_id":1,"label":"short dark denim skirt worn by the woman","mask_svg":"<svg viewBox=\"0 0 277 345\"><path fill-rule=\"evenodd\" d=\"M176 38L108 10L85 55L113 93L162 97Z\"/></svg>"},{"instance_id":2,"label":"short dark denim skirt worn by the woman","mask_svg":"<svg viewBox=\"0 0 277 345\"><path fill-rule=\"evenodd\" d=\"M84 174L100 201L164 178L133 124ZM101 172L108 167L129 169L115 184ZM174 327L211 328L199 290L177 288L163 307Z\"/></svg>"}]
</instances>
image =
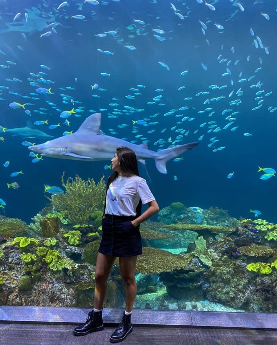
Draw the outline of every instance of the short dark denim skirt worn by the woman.
<instances>
[{"instance_id":1,"label":"short dark denim skirt worn by the woman","mask_svg":"<svg viewBox=\"0 0 277 345\"><path fill-rule=\"evenodd\" d=\"M105 215L102 218L102 239L99 253L129 257L142 254L141 236L138 226L131 221L134 216Z\"/></svg>"}]
</instances>

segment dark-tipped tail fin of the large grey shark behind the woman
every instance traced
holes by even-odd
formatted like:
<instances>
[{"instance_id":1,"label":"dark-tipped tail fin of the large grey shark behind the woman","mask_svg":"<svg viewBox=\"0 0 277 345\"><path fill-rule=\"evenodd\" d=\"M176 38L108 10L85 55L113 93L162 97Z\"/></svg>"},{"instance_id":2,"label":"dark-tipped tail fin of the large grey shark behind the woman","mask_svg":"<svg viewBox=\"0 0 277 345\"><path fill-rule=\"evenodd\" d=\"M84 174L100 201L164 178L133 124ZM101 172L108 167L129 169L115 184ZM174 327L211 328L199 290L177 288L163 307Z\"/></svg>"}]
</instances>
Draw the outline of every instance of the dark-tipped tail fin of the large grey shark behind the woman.
<instances>
[{"instance_id":1,"label":"dark-tipped tail fin of the large grey shark behind the woman","mask_svg":"<svg viewBox=\"0 0 277 345\"><path fill-rule=\"evenodd\" d=\"M156 157L153 157L155 159L156 168L162 174L166 174L167 161L179 156L186 150L192 150L197 145L199 145L199 142L190 142L189 144L178 145L156 152Z\"/></svg>"}]
</instances>

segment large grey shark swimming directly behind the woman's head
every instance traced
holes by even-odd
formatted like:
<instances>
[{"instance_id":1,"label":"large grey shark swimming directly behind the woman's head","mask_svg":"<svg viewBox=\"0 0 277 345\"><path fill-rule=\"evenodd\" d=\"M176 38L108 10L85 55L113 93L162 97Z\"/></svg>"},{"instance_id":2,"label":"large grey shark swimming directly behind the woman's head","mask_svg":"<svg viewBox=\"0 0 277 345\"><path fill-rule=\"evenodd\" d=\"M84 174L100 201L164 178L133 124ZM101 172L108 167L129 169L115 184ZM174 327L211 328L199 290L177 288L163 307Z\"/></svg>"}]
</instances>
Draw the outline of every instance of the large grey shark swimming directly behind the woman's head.
<instances>
[{"instance_id":1,"label":"large grey shark swimming directly behind the woman's head","mask_svg":"<svg viewBox=\"0 0 277 345\"><path fill-rule=\"evenodd\" d=\"M137 160L141 164L145 165L145 160L152 158L155 160L158 171L166 174L168 160L179 156L186 150L192 150L199 144L199 142L191 142L155 152L147 148L147 143L137 145L103 134L100 124L101 114L92 114L85 119L76 132L48 140L40 145L29 146L28 149L46 157L96 161L110 160L117 147L127 146L135 152Z\"/></svg>"}]
</instances>

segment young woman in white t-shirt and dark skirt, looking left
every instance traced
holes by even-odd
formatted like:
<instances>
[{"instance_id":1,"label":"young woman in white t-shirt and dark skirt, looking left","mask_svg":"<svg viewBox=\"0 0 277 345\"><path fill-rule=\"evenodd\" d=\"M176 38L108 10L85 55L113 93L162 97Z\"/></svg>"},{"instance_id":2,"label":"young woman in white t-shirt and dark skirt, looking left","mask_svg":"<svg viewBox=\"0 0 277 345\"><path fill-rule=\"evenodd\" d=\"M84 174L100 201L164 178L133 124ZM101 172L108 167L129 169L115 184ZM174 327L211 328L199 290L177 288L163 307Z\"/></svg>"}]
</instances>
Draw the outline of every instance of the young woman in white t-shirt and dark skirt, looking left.
<instances>
[{"instance_id":1,"label":"young woman in white t-shirt and dark skirt, looking left","mask_svg":"<svg viewBox=\"0 0 277 345\"><path fill-rule=\"evenodd\" d=\"M155 197L146 180L139 177L137 157L128 147L117 147L111 160L113 174L108 178L102 239L95 269L94 308L85 324L74 329L75 335L102 331L102 305L111 267L119 257L119 266L126 288L126 307L118 328L110 337L111 343L121 342L132 332L131 312L136 299L135 269L137 256L142 254L139 225L159 211ZM149 208L141 214L141 205Z\"/></svg>"}]
</instances>

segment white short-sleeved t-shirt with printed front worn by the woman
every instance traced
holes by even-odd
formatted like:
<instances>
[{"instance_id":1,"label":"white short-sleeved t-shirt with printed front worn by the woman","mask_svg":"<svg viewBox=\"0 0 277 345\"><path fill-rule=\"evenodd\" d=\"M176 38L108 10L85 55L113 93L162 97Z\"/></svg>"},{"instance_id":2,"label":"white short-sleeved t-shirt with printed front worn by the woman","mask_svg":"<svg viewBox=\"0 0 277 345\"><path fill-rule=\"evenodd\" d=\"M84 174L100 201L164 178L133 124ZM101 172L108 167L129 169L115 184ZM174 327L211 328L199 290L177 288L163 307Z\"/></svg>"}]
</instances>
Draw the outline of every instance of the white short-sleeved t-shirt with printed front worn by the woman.
<instances>
[{"instance_id":1,"label":"white short-sleeved t-shirt with printed front worn by the woman","mask_svg":"<svg viewBox=\"0 0 277 345\"><path fill-rule=\"evenodd\" d=\"M106 214L135 216L141 199L142 204L155 200L146 180L140 176L118 176L110 185L106 196Z\"/></svg>"}]
</instances>

